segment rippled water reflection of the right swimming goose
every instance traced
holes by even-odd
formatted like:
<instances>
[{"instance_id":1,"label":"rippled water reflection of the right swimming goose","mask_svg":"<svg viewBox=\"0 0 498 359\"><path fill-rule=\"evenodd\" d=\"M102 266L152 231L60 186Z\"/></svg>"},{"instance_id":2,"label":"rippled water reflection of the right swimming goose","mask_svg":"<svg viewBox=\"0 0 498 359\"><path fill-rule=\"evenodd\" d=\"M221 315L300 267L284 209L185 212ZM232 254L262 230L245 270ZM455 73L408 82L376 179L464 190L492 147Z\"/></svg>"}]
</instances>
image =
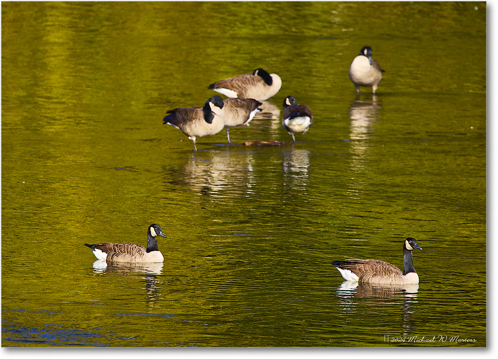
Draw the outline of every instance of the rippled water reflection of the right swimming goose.
<instances>
[{"instance_id":1,"label":"rippled water reflection of the right swimming goose","mask_svg":"<svg viewBox=\"0 0 498 359\"><path fill-rule=\"evenodd\" d=\"M342 315L354 314L361 304L376 306L392 306L393 299L401 299L401 329L403 335L411 331L411 316L418 302L418 284L382 285L344 281L337 289L339 307ZM381 300L389 299L389 300ZM395 303L395 302L394 302Z\"/></svg>"}]
</instances>

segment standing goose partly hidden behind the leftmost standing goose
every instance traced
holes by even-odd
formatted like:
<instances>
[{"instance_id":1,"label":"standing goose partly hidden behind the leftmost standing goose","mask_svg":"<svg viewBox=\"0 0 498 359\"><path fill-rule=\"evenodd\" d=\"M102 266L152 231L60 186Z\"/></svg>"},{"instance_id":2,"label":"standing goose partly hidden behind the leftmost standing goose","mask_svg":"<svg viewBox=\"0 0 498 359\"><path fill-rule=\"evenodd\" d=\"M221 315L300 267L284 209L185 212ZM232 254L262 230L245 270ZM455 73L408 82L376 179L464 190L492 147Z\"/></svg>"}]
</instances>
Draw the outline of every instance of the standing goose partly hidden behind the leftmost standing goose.
<instances>
[{"instance_id":1,"label":"standing goose partly hidden behind the leftmost standing goose","mask_svg":"<svg viewBox=\"0 0 498 359\"><path fill-rule=\"evenodd\" d=\"M250 120L261 111L261 109L258 109L258 106L260 106L261 103L253 99L222 100L219 96L213 96L212 98L215 97L223 101L223 107L215 108L213 109L213 112L223 118L225 130L227 131L228 143L232 143L229 133L230 128L242 125L249 126Z\"/></svg>"}]
</instances>

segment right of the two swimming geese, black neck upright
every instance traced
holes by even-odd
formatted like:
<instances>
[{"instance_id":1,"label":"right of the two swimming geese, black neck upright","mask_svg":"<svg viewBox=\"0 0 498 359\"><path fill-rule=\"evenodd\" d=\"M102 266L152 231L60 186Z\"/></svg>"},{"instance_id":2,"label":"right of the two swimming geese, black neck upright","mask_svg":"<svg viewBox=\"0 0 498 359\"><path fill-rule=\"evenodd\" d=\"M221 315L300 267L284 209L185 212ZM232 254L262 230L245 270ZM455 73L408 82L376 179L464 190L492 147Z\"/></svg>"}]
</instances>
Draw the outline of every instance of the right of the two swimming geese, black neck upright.
<instances>
[{"instance_id":1,"label":"right of the two swimming geese, black neck upright","mask_svg":"<svg viewBox=\"0 0 498 359\"><path fill-rule=\"evenodd\" d=\"M422 250L413 238L407 238L403 245L404 271L395 265L376 259L336 260L332 264L344 279L370 284L418 284L418 274L413 267L412 250Z\"/></svg>"}]
</instances>

